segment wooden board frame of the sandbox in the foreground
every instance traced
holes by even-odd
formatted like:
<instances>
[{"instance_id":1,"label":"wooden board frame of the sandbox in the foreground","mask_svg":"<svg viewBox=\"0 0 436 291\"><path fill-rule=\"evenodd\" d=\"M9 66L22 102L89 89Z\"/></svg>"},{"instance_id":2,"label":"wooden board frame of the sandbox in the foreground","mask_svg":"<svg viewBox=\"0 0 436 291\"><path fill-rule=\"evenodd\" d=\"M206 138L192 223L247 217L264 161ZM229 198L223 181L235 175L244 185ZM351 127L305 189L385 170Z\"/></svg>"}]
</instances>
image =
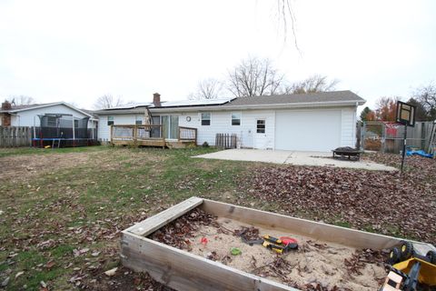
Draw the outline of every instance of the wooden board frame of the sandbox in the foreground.
<instances>
[{"instance_id":1,"label":"wooden board frame of the sandbox in the foreground","mask_svg":"<svg viewBox=\"0 0 436 291\"><path fill-rule=\"evenodd\" d=\"M401 241L392 236L191 197L125 229L121 238L123 265L134 271L147 272L156 281L176 290L298 290L145 237L195 207L214 216L232 218L254 226L282 229L295 235L356 248L385 249L397 246ZM433 246L420 242L413 242L413 246L424 255L434 249Z\"/></svg>"}]
</instances>

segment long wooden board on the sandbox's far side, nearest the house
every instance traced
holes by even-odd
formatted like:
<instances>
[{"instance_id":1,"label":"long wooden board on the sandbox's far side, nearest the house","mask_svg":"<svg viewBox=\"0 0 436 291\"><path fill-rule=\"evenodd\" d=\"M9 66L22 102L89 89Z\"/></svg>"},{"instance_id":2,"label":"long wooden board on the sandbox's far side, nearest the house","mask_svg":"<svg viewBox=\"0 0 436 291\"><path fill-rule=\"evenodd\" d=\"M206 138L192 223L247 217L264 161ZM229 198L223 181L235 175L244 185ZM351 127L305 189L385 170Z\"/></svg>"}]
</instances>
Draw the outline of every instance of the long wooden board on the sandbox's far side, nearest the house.
<instances>
[{"instance_id":1,"label":"long wooden board on the sandbox's far side, nearest the house","mask_svg":"<svg viewBox=\"0 0 436 291\"><path fill-rule=\"evenodd\" d=\"M332 226L311 220L283 216L243 206L203 199L204 211L215 216L233 218L254 226L280 229L296 235L310 236L326 242L357 248L383 249L397 246L400 238L362 232L352 228Z\"/></svg>"}]
</instances>

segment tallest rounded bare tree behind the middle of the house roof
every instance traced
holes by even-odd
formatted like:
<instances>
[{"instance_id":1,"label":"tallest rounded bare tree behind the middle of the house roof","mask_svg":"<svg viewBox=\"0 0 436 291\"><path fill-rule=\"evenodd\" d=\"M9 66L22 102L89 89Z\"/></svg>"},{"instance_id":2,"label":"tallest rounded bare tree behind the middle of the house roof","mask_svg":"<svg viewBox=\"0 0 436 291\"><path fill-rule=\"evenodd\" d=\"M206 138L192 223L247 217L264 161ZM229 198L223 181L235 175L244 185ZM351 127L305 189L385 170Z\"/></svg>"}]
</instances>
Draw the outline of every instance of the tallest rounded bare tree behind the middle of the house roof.
<instances>
[{"instance_id":1,"label":"tallest rounded bare tree behind the middle of the house roof","mask_svg":"<svg viewBox=\"0 0 436 291\"><path fill-rule=\"evenodd\" d=\"M229 72L229 91L237 96L274 95L282 85L283 75L269 59L249 57Z\"/></svg>"}]
</instances>

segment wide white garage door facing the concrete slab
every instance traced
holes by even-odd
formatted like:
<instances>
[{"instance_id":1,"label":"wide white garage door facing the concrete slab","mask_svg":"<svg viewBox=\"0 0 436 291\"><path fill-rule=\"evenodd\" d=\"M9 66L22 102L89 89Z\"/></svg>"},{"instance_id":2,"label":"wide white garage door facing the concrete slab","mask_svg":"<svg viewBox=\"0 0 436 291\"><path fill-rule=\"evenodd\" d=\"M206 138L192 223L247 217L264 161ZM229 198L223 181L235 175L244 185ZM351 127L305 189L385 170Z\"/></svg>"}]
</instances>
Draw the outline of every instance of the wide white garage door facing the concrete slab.
<instances>
[{"instance_id":1,"label":"wide white garage door facing the concrete slab","mask_svg":"<svg viewBox=\"0 0 436 291\"><path fill-rule=\"evenodd\" d=\"M276 111L276 149L325 152L340 145L341 111Z\"/></svg>"}]
</instances>

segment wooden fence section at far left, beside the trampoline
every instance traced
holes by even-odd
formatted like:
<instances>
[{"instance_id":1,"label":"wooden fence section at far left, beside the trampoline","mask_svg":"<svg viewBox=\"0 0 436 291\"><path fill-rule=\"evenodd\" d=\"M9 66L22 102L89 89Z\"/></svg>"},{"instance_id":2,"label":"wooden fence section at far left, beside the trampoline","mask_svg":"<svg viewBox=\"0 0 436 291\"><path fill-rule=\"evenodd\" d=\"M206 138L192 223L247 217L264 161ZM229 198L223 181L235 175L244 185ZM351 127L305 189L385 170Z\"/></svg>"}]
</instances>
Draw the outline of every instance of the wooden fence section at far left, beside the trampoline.
<instances>
[{"instance_id":1,"label":"wooden fence section at far left, beside the trampoline","mask_svg":"<svg viewBox=\"0 0 436 291\"><path fill-rule=\"evenodd\" d=\"M32 127L0 126L0 147L32 146Z\"/></svg>"}]
</instances>

